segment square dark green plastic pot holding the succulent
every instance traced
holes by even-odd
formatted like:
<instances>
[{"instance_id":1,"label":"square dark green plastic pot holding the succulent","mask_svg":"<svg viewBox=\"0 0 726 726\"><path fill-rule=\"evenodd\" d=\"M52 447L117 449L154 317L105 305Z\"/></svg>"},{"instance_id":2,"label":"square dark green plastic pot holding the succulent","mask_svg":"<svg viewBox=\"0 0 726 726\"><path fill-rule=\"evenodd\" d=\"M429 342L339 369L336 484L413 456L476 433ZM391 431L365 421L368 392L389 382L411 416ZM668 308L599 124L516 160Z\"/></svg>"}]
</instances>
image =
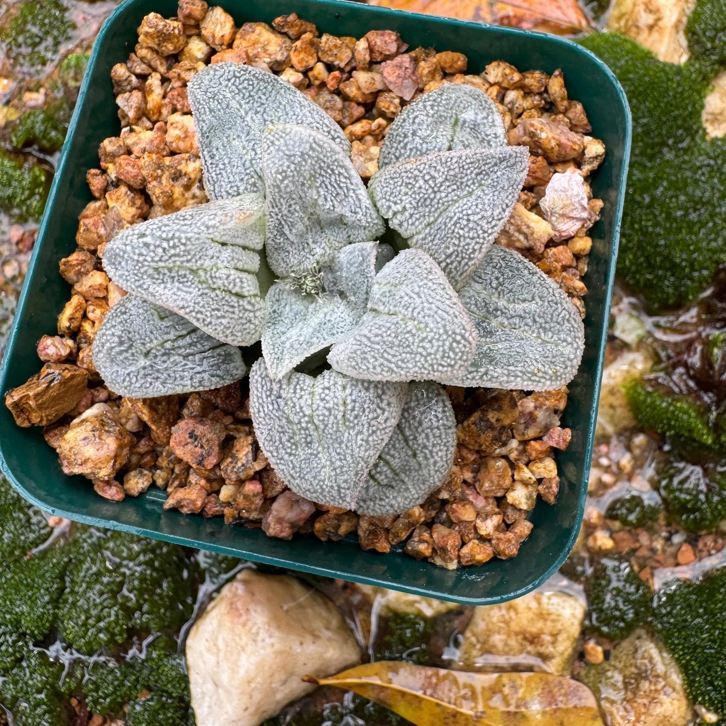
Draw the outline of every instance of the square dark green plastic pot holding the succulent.
<instances>
[{"instance_id":1,"label":"square dark green plastic pot holding the succulent","mask_svg":"<svg viewBox=\"0 0 726 726\"><path fill-rule=\"evenodd\" d=\"M592 253L585 277L590 289L587 346L563 417L563 425L572 429L572 442L558 455L557 503L537 504L531 515L534 530L517 558L449 571L404 555L400 546L382 555L364 552L354 537L337 543L320 542L312 536L285 542L266 537L260 529L225 526L221 518L165 512L165 495L158 489L150 489L137 499L109 502L94 494L86 478L65 476L41 429L19 428L1 406L0 452L5 475L26 499L54 515L256 562L474 605L501 603L534 590L563 563L582 521L630 149L630 113L619 83L590 52L571 41L540 33L339 0L221 0L219 4L234 16L237 25L245 21L271 23L277 15L297 12L316 23L321 32L335 36L398 30L412 48L423 45L465 53L473 73L497 59L507 60L520 70L552 73L555 68L563 69L571 97L584 103L592 134L603 139L608 153L592 178L593 194L602 198L605 206L591 233ZM55 333L57 314L68 301L70 290L58 273L58 261L76 248L78 213L91 200L86 171L98 166L97 149L103 139L120 131L110 70L133 51L136 28L152 11L174 16L176 0L123 2L106 21L94 45L17 306L0 372L2 391L19 386L39 370L36 343L44 333Z\"/></svg>"}]
</instances>

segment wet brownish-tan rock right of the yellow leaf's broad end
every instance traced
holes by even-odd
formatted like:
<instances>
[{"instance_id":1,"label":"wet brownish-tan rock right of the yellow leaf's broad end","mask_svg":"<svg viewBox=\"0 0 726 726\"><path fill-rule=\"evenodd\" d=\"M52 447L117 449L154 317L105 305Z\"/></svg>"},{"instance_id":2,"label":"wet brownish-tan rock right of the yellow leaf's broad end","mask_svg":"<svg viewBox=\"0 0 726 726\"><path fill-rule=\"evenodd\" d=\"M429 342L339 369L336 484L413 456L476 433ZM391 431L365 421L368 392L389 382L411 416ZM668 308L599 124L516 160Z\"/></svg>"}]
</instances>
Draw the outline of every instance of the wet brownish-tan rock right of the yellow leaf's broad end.
<instances>
[{"instance_id":1,"label":"wet brownish-tan rock right of the yellow leaf's broad end","mask_svg":"<svg viewBox=\"0 0 726 726\"><path fill-rule=\"evenodd\" d=\"M693 711L672 656L645 630L636 630L610 660L584 669L610 726L685 726Z\"/></svg>"}]
</instances>

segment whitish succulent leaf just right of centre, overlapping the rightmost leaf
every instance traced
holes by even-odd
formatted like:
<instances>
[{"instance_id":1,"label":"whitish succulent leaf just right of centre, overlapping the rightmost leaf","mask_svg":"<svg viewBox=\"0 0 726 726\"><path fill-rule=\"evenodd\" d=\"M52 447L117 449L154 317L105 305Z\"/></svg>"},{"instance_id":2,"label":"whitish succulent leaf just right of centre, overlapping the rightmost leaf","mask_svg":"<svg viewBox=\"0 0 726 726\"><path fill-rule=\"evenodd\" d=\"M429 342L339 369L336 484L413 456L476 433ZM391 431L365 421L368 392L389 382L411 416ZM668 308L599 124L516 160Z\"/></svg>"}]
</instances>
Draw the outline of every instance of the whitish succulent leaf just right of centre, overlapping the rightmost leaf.
<instances>
[{"instance_id":1,"label":"whitish succulent leaf just right of centre, overlapping the rightmost leaf","mask_svg":"<svg viewBox=\"0 0 726 726\"><path fill-rule=\"evenodd\" d=\"M460 375L476 330L438 265L403 250L376 275L366 314L328 355L335 370L367 380Z\"/></svg>"}]
</instances>

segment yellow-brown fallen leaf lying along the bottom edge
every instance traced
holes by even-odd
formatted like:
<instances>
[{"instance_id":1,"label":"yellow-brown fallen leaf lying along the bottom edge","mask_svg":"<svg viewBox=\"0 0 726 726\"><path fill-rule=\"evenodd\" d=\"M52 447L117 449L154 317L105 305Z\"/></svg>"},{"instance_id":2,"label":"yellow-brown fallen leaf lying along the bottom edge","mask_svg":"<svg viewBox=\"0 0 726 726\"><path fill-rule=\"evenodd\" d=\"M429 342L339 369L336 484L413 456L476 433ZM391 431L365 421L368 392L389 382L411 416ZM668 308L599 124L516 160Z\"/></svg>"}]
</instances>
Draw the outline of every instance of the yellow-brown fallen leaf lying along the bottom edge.
<instances>
[{"instance_id":1,"label":"yellow-brown fallen leaf lying along the bottom edge","mask_svg":"<svg viewBox=\"0 0 726 726\"><path fill-rule=\"evenodd\" d=\"M549 673L465 673L394 661L330 678L416 726L603 726L587 686Z\"/></svg>"}]
</instances>

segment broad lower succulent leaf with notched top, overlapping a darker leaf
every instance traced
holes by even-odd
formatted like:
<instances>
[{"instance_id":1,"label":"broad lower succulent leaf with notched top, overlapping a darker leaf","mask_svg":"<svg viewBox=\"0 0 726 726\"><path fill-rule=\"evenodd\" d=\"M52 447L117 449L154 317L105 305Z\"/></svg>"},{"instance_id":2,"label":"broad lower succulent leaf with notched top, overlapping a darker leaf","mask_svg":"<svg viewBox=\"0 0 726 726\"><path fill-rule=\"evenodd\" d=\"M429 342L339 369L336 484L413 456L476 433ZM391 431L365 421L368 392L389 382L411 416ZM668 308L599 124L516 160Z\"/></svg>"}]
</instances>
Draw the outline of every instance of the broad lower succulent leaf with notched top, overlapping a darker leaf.
<instances>
[{"instance_id":1,"label":"broad lower succulent leaf with notched top, overlapping a darker leaf","mask_svg":"<svg viewBox=\"0 0 726 726\"><path fill-rule=\"evenodd\" d=\"M259 359L250 370L250 412L264 454L293 492L352 509L396 428L407 389L333 370L276 382Z\"/></svg>"}]
</instances>

